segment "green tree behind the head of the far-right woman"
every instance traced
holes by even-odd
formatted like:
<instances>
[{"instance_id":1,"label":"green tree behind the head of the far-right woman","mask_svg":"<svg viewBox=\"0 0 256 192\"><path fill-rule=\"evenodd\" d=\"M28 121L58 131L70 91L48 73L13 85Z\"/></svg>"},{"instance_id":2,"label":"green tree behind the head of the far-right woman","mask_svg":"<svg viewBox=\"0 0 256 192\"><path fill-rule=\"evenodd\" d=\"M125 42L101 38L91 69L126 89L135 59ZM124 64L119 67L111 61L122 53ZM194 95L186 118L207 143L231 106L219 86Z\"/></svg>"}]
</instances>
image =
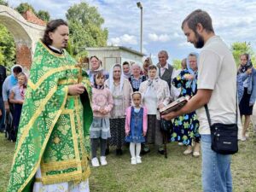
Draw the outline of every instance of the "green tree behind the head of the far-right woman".
<instances>
[{"instance_id":1,"label":"green tree behind the head of the far-right woman","mask_svg":"<svg viewBox=\"0 0 256 192\"><path fill-rule=\"evenodd\" d=\"M232 54L236 61L236 66L238 66L240 64L240 55L244 54L244 53L251 55L251 60L252 60L253 64L254 65L256 64L255 55L253 53L253 48L250 43L235 42L235 43L231 44L231 50L232 50Z\"/></svg>"}]
</instances>

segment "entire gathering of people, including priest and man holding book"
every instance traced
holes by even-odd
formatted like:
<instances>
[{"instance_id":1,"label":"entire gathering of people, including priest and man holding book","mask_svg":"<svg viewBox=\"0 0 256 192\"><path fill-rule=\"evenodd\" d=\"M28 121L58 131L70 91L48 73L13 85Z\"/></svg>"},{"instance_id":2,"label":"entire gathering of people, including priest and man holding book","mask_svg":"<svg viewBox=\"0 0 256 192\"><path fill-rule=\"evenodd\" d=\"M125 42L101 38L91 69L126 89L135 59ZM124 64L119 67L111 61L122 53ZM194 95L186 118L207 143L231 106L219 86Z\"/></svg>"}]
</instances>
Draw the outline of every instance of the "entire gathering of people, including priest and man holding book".
<instances>
[{"instance_id":1,"label":"entire gathering of people, including priest and man holding book","mask_svg":"<svg viewBox=\"0 0 256 192\"><path fill-rule=\"evenodd\" d=\"M128 61L113 63L109 72L94 55L85 71L65 50L67 23L50 21L38 42L29 79L20 65L12 67L7 78L4 67L0 68L0 128L10 134L9 139L17 138L9 191L54 191L60 186L89 191L88 158L92 166L106 166L110 146L116 155L122 155L125 143L130 143L131 165L142 163L141 154L150 152L152 144L157 153L165 154L165 123L170 126L168 142L186 145L185 155L199 157L202 153L204 191L212 191L212 186L219 187L213 191L232 191L230 155L209 151L209 125L201 107L208 103L212 121L224 123L235 121L239 110L245 116L241 141L246 141L256 99L256 70L247 54L240 56L236 70L230 50L214 34L206 12L192 12L182 29L195 48L203 49L201 55L188 53L180 69L168 63L166 50L160 50L158 63L149 57L143 67ZM49 66L44 67L45 63ZM161 108L181 96L189 98L182 109L160 115ZM12 128L7 129L9 117ZM222 160L222 164L212 165L209 158ZM26 169L20 172L21 164ZM222 171L212 181L216 169ZM33 186L32 177L36 178Z\"/></svg>"}]
</instances>

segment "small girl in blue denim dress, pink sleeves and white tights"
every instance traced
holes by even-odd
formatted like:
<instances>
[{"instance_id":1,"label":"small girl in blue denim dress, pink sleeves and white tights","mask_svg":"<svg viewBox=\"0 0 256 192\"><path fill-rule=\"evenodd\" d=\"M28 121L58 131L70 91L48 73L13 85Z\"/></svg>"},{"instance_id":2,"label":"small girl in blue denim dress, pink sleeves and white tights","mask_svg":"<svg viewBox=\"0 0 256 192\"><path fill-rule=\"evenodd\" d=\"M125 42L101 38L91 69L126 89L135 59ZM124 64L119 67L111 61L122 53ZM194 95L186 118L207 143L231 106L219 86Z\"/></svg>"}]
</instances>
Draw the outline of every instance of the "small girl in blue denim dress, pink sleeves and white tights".
<instances>
[{"instance_id":1,"label":"small girl in blue denim dress, pink sleeves and white tights","mask_svg":"<svg viewBox=\"0 0 256 192\"><path fill-rule=\"evenodd\" d=\"M142 107L142 94L140 92L134 92L131 97L133 106L126 109L125 142L130 143L131 165L136 165L142 163L140 157L141 143L145 142L148 112L147 108Z\"/></svg>"}]
</instances>

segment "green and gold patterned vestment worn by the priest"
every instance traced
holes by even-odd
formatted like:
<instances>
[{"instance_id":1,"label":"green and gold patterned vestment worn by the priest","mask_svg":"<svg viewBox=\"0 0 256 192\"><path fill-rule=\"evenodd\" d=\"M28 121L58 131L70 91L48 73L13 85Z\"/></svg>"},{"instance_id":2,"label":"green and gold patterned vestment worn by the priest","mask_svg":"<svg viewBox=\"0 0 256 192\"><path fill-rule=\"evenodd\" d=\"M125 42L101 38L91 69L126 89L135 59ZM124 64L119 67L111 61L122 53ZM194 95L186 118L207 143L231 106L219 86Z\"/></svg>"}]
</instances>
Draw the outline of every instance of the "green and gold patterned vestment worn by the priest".
<instances>
[{"instance_id":1,"label":"green and gold patterned vestment worn by the priest","mask_svg":"<svg viewBox=\"0 0 256 192\"><path fill-rule=\"evenodd\" d=\"M69 84L84 84L87 94L69 96ZM87 74L64 50L38 42L22 107L8 191L30 191L33 182L73 181L90 175L91 87ZM41 168L42 177L34 179Z\"/></svg>"}]
</instances>

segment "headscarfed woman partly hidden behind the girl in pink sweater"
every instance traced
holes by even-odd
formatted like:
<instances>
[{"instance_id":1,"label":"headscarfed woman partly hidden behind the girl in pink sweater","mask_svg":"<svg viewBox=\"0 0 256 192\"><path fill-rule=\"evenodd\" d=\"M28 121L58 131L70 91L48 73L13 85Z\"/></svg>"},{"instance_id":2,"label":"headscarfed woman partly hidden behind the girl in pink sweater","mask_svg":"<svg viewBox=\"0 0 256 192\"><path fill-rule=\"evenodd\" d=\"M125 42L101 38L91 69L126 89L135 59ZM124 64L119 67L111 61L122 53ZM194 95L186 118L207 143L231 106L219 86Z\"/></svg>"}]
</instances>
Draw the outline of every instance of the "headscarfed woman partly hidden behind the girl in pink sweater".
<instances>
[{"instance_id":1,"label":"headscarfed woman partly hidden behind the girl in pink sweater","mask_svg":"<svg viewBox=\"0 0 256 192\"><path fill-rule=\"evenodd\" d=\"M94 75L96 73L101 72L103 73L105 79L108 79L109 74L107 71L105 71L102 67L102 61L99 60L96 55L90 57L90 70L87 71L89 78L90 78L90 83L93 85L94 84Z\"/></svg>"}]
</instances>

